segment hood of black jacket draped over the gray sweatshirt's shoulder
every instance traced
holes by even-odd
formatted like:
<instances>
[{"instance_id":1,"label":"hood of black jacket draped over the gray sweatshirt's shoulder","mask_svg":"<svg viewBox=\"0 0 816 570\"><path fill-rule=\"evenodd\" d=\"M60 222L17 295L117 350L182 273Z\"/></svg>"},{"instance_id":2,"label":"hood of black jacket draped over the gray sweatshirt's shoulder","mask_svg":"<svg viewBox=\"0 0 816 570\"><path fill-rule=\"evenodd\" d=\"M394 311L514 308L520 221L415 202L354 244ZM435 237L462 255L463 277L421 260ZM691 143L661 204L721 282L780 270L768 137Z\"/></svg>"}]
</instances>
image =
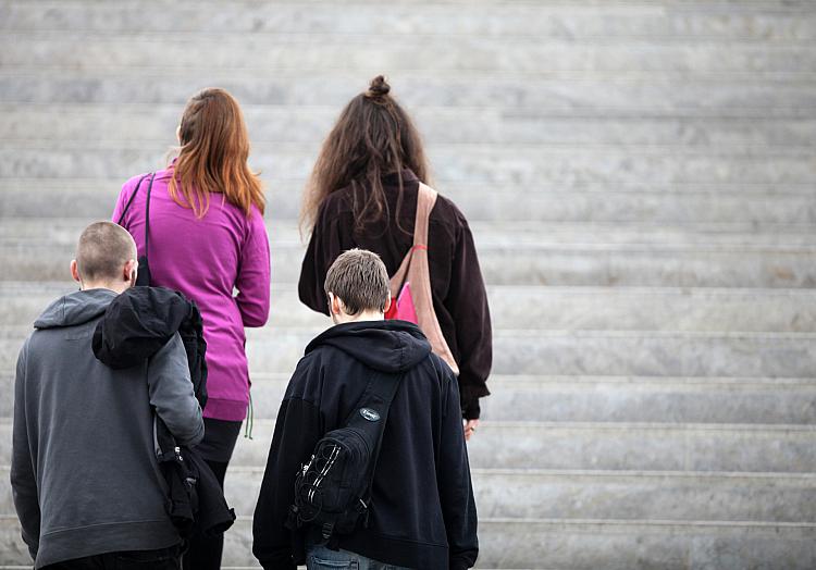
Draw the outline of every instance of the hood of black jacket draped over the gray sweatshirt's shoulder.
<instances>
[{"instance_id":1,"label":"hood of black jacket draped over the gray sweatshirt's shoulder","mask_svg":"<svg viewBox=\"0 0 816 570\"><path fill-rule=\"evenodd\" d=\"M163 287L132 287L106 309L94 332L94 354L114 369L152 357L190 312L184 296Z\"/></svg>"}]
</instances>

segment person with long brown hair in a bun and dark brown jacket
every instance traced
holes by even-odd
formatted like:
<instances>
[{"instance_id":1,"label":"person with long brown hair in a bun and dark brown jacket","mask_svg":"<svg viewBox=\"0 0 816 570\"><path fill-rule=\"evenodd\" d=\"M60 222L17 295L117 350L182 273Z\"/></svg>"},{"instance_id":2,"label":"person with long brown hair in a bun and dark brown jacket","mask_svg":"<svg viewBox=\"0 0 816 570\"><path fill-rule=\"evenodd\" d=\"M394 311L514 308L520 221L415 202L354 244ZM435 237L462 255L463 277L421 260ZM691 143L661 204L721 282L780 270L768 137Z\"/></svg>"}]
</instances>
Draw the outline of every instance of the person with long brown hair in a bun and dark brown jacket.
<instances>
[{"instance_id":1,"label":"person with long brown hair in a bun and dark brown jacket","mask_svg":"<svg viewBox=\"0 0 816 570\"><path fill-rule=\"evenodd\" d=\"M301 227L311 239L298 285L305 305L329 314L326 271L348 249L374 251L390 275L397 272L413 247L420 183L430 183L420 135L380 75L341 113L306 189ZM470 227L443 196L429 219L428 262L433 309L459 369L470 438L479 424L479 398L490 394L491 320Z\"/></svg>"}]
</instances>

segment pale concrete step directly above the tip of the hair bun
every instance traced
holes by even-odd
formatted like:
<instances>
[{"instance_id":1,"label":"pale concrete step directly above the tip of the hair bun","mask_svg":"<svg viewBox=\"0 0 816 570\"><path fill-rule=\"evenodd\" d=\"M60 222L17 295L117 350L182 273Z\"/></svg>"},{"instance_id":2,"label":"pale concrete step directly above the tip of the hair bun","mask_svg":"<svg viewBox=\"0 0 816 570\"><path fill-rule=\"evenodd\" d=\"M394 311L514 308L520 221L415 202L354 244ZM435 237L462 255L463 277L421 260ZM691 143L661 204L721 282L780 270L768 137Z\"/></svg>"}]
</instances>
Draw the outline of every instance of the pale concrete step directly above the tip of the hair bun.
<instances>
[{"instance_id":1,"label":"pale concrete step directly above the tip of the hair bun","mask_svg":"<svg viewBox=\"0 0 816 570\"><path fill-rule=\"evenodd\" d=\"M70 49L66 49L70 47ZM375 51L374 51L375 49ZM257 59L263 53L263 64ZM324 70L345 67L371 73L373 69L400 71L423 70L436 73L467 70L471 72L510 72L546 76L551 71L585 73L608 72L815 72L816 50L809 45L775 46L691 41L672 45L651 41L646 45L623 42L574 42L532 37L489 38L366 35L334 36L197 34L184 38L139 29L133 35L76 33L74 30L5 33L0 38L0 64L9 69L53 67L145 70L232 70L256 69L264 73L297 71L320 74ZM206 64L203 63L206 62Z\"/></svg>"}]
</instances>

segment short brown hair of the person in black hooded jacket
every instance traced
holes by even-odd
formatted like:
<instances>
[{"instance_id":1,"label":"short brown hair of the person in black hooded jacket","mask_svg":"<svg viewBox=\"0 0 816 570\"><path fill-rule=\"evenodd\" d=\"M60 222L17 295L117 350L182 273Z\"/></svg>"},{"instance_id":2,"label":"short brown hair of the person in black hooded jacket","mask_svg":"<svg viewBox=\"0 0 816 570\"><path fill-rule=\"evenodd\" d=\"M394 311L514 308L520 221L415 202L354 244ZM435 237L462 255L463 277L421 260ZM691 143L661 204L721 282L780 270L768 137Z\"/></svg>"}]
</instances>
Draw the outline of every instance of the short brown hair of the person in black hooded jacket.
<instances>
[{"instance_id":1,"label":"short brown hair of the person in black hooded jacket","mask_svg":"<svg viewBox=\"0 0 816 570\"><path fill-rule=\"evenodd\" d=\"M334 260L323 285L326 295L338 297L350 315L361 311L385 311L388 272L380 256L366 249L349 249Z\"/></svg>"}]
</instances>

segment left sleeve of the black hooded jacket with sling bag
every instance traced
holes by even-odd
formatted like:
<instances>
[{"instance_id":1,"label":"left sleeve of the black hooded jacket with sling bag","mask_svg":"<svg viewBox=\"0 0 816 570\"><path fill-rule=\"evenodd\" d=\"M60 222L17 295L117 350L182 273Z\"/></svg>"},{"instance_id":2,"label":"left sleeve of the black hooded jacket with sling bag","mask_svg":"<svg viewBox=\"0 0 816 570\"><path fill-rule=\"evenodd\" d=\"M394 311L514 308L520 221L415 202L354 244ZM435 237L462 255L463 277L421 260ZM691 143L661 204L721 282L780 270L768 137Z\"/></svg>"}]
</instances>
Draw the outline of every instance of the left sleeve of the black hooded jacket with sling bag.
<instances>
[{"instance_id":1,"label":"left sleeve of the black hooded jacket with sling bag","mask_svg":"<svg viewBox=\"0 0 816 570\"><path fill-rule=\"evenodd\" d=\"M252 520L252 554L264 570L294 570L302 562L302 553L296 552L285 523L295 500L295 474L309 460L321 435L316 406L300 398L284 399Z\"/></svg>"}]
</instances>

